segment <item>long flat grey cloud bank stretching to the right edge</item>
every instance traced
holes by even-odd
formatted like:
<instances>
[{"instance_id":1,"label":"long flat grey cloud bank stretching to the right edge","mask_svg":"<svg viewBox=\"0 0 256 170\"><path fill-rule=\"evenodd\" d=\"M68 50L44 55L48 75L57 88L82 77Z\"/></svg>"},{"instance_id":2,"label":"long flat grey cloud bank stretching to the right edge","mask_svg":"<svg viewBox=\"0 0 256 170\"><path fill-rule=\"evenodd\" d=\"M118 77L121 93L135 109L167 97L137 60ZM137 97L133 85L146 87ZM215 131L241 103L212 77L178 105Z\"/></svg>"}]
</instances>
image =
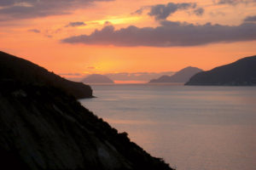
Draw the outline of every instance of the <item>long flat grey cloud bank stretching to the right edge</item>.
<instances>
[{"instance_id":1,"label":"long flat grey cloud bank stretching to the right edge","mask_svg":"<svg viewBox=\"0 0 256 170\"><path fill-rule=\"evenodd\" d=\"M158 27L129 26L115 30L105 26L90 35L67 37L61 42L114 45L123 47L149 46L174 47L198 46L216 42L239 42L256 40L256 24L242 23L239 26L194 25L189 23L161 21Z\"/></svg>"}]
</instances>

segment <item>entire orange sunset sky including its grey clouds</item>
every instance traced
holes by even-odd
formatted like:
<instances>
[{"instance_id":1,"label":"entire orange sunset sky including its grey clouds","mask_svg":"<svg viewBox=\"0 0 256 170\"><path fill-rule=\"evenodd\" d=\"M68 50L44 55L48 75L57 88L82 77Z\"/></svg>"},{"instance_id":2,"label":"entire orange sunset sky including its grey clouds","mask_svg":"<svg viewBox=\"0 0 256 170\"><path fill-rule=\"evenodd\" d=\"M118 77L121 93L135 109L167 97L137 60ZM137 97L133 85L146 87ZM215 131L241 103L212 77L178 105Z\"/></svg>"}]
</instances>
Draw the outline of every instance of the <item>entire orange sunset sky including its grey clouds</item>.
<instances>
[{"instance_id":1,"label":"entire orange sunset sky including its grey clouds","mask_svg":"<svg viewBox=\"0 0 256 170\"><path fill-rule=\"evenodd\" d=\"M209 70L256 54L256 0L0 0L0 50L70 77Z\"/></svg>"}]
</instances>

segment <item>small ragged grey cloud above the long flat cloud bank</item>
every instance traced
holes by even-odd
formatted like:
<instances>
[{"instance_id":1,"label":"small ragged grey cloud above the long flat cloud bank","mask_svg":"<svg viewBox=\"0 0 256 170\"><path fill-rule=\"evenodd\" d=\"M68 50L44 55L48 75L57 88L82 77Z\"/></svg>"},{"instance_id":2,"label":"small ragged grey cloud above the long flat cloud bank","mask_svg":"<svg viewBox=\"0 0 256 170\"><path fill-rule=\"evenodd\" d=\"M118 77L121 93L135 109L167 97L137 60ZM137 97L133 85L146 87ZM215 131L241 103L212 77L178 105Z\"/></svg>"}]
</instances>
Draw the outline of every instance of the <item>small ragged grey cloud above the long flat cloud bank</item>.
<instances>
[{"instance_id":1,"label":"small ragged grey cloud above the long flat cloud bank","mask_svg":"<svg viewBox=\"0 0 256 170\"><path fill-rule=\"evenodd\" d=\"M155 20L166 20L166 18L177 11L194 9L193 14L202 15L204 13L203 8L197 8L196 3L167 3L167 4L157 4L153 6L145 6L143 8L137 9L132 14L143 14L143 10L148 9L148 15L154 17Z\"/></svg>"}]
</instances>

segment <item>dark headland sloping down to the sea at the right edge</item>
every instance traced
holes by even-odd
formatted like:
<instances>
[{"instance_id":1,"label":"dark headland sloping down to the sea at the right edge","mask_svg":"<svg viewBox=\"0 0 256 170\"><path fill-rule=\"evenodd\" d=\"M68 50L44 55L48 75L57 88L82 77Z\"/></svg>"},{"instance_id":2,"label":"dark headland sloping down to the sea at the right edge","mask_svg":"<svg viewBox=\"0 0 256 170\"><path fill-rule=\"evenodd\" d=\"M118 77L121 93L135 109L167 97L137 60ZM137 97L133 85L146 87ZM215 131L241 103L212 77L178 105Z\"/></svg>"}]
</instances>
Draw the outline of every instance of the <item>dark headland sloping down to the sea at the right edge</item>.
<instances>
[{"instance_id":1,"label":"dark headland sloping down to the sea at the right edge","mask_svg":"<svg viewBox=\"0 0 256 170\"><path fill-rule=\"evenodd\" d=\"M211 71L200 72L185 85L255 86L256 55L218 66Z\"/></svg>"}]
</instances>

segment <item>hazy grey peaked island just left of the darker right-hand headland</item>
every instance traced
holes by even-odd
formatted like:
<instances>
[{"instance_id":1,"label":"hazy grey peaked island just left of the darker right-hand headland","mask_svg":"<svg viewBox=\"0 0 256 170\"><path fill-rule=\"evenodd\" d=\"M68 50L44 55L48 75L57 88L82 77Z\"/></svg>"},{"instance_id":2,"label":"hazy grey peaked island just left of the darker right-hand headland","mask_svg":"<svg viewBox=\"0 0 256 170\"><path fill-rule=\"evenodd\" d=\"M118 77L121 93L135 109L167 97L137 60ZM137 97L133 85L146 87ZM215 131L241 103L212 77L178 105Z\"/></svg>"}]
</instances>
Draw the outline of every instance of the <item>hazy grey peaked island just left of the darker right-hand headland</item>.
<instances>
[{"instance_id":1,"label":"hazy grey peaked island just left of the darker right-hand headland","mask_svg":"<svg viewBox=\"0 0 256 170\"><path fill-rule=\"evenodd\" d=\"M149 83L166 83L166 82L188 82L189 78L194 76L196 73L201 72L202 70L196 67L186 67L181 71L177 71L174 75L170 76L162 76L158 79L153 79Z\"/></svg>"}]
</instances>

